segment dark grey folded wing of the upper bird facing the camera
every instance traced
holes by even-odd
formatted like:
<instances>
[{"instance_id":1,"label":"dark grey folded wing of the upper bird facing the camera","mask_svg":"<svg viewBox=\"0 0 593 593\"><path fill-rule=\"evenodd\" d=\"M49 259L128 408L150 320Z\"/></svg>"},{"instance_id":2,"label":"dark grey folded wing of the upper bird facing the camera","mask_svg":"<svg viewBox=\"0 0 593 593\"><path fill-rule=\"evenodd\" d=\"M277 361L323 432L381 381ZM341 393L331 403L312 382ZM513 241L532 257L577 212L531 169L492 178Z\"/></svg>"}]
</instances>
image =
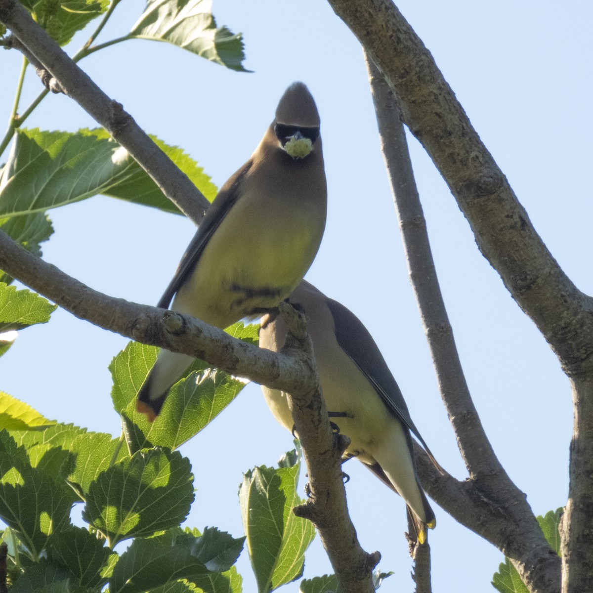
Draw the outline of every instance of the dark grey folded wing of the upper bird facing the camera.
<instances>
[{"instance_id":1,"label":"dark grey folded wing of the upper bird facing the camera","mask_svg":"<svg viewBox=\"0 0 593 593\"><path fill-rule=\"evenodd\" d=\"M238 197L240 196L239 187L241 181L243 181L243 178L250 170L251 165L253 165L253 161L250 159L243 165L243 167L229 177L224 186L219 190L215 200L206 211L196 234L193 235L192 241L189 246L187 246L186 252L183 254L183 257L181 257L175 275L167 286L160 301L158 301L157 307L163 309L169 307L175 293L196 267L196 264L200 259L200 256L202 256L204 248L206 247L206 244L208 244L214 231L216 231L228 211L232 208L235 202L237 202Z\"/></svg>"}]
</instances>

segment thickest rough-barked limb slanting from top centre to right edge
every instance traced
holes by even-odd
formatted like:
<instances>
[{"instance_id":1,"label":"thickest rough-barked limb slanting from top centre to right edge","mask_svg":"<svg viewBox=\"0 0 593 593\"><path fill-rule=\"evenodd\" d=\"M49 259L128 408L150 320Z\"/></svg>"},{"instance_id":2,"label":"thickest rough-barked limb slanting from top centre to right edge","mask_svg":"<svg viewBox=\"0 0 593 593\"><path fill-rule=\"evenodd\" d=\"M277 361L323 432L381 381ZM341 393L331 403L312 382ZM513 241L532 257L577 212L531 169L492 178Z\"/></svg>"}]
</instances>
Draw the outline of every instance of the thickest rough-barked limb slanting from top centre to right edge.
<instances>
[{"instance_id":1,"label":"thickest rough-barked limb slanting from top centre to right edge","mask_svg":"<svg viewBox=\"0 0 593 593\"><path fill-rule=\"evenodd\" d=\"M567 374L591 372L593 299L573 285L535 232L422 40L391 0L329 3L396 92L404 123L431 156L512 297Z\"/></svg>"}]
</instances>

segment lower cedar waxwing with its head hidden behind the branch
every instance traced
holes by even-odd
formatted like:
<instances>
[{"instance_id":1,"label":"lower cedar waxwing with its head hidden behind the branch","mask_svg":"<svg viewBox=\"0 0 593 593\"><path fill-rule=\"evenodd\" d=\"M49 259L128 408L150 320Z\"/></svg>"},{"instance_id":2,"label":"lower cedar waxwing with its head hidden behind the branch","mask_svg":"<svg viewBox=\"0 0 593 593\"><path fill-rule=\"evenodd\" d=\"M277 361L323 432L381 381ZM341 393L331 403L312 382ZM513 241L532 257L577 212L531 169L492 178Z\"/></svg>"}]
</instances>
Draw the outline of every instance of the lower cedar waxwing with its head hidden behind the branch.
<instances>
[{"instance_id":1,"label":"lower cedar waxwing with its head hidden behind the branch","mask_svg":"<svg viewBox=\"0 0 593 593\"><path fill-rule=\"evenodd\" d=\"M321 391L331 421L349 436L344 458L358 458L382 482L406 501L418 541L425 526L435 527L435 514L420 486L412 448L412 431L432 453L410 418L406 402L380 350L366 327L337 301L303 280L288 298L307 318ZM259 344L280 352L286 341L282 316L270 313L262 321ZM262 387L270 411L289 431L294 428L285 394Z\"/></svg>"}]
</instances>

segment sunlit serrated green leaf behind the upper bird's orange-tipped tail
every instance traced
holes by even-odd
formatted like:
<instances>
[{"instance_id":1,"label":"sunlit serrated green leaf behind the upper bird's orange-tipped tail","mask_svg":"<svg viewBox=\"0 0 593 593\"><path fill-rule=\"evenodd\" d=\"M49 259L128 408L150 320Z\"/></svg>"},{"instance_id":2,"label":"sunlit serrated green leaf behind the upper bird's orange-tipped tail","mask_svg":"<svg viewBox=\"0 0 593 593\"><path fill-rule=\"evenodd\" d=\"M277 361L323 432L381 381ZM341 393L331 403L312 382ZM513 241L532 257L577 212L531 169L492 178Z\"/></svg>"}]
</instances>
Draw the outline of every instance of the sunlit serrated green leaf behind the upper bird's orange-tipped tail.
<instances>
[{"instance_id":1,"label":"sunlit serrated green leaf behind the upper bird's orange-tipped tail","mask_svg":"<svg viewBox=\"0 0 593 593\"><path fill-rule=\"evenodd\" d=\"M196 360L167 397L157 419L150 423L136 412L136 396L152 368L157 349L130 342L109 365L113 377L111 398L125 417L133 448L148 444L175 449L205 428L245 387L243 381ZM144 440L140 435L144 435Z\"/></svg>"}]
</instances>

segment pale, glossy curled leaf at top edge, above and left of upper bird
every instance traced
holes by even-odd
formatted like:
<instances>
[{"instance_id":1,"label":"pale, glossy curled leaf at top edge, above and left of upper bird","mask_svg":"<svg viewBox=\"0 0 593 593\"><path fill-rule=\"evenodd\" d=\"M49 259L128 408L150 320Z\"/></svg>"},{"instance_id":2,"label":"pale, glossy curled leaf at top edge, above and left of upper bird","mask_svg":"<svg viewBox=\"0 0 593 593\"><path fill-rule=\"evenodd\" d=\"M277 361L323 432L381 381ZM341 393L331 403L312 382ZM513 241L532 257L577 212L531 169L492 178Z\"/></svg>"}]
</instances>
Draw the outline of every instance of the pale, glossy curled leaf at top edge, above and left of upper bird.
<instances>
[{"instance_id":1,"label":"pale, glossy curled leaf at top edge, above and left of upper bird","mask_svg":"<svg viewBox=\"0 0 593 593\"><path fill-rule=\"evenodd\" d=\"M248 72L241 34L216 28L212 0L148 0L131 37L173 43L232 70Z\"/></svg>"}]
</instances>

